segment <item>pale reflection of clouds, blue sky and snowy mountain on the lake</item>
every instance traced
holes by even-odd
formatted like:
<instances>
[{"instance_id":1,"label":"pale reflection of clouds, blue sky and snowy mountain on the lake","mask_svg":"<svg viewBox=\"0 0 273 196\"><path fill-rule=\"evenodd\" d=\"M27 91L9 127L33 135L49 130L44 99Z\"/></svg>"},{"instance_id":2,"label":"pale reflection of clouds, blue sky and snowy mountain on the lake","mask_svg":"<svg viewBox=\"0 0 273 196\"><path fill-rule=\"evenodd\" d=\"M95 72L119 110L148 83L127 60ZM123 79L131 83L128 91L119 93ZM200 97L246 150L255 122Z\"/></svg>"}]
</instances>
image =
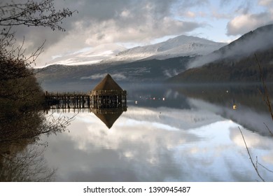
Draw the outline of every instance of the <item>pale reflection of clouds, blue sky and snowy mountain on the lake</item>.
<instances>
[{"instance_id":1,"label":"pale reflection of clouds, blue sky and snowy mountain on the lake","mask_svg":"<svg viewBox=\"0 0 273 196\"><path fill-rule=\"evenodd\" d=\"M237 127L202 109L132 106L110 130L79 113L70 132L48 138L45 158L58 168L57 181L255 181ZM272 139L241 129L251 151L272 163Z\"/></svg>"}]
</instances>

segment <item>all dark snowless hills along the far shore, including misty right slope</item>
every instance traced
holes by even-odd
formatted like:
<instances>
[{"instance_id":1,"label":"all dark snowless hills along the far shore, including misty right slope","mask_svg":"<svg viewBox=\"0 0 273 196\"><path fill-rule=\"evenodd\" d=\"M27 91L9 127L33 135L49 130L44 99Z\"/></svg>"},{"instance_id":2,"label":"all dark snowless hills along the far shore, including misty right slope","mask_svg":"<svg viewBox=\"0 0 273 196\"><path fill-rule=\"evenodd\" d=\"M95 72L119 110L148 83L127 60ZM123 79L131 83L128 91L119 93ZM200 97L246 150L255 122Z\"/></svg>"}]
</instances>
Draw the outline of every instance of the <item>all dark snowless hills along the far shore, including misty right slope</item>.
<instances>
[{"instance_id":1,"label":"all dark snowless hills along the far shore, including misty right slope","mask_svg":"<svg viewBox=\"0 0 273 196\"><path fill-rule=\"evenodd\" d=\"M146 57L134 62L120 60L118 62L80 66L52 65L48 66L45 71L37 73L37 78L41 83L48 85L59 83L62 86L68 83L73 85L97 83L104 78L106 73L110 73L119 83L162 83L166 80L169 83L253 83L260 81L258 63L253 55L255 53L262 66L265 79L273 81L273 41L267 41L268 37L265 36L270 36L271 33L273 34L273 25L260 27L258 30L255 29L241 36L237 41L202 57L186 56L167 59L150 59ZM248 50L250 47L244 49L246 45L241 44L257 43L257 41L260 41L260 38L265 39L261 43L267 44L255 44L251 50ZM171 39L171 41L175 41L175 39ZM194 45L196 44L201 43L194 43ZM237 50L233 51L232 48L234 47ZM244 49L243 55L239 54L238 48ZM158 47L158 49L163 51L168 48ZM205 62L204 58L211 57L211 54L218 56L214 56L216 57L215 59L210 59L211 62ZM202 62L203 66L190 68L189 65L197 61Z\"/></svg>"}]
</instances>

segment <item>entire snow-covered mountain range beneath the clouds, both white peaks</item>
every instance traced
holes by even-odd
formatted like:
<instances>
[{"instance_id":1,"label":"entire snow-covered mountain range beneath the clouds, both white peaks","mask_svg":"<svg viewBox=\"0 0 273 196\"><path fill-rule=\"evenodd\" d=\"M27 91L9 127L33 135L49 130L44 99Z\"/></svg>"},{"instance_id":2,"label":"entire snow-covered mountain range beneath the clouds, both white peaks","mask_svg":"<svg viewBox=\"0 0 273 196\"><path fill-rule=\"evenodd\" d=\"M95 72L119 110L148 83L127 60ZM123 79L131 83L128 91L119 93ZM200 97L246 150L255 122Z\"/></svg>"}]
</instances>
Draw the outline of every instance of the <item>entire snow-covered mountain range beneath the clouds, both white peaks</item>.
<instances>
[{"instance_id":1,"label":"entire snow-covered mountain range beneath the clouds, both white peaks","mask_svg":"<svg viewBox=\"0 0 273 196\"><path fill-rule=\"evenodd\" d=\"M50 64L80 65L99 64L101 62L134 62L140 59L168 59L207 55L223 47L223 45L226 43L217 43L195 36L177 36L161 43L130 49L117 44L104 44L56 58Z\"/></svg>"}]
</instances>

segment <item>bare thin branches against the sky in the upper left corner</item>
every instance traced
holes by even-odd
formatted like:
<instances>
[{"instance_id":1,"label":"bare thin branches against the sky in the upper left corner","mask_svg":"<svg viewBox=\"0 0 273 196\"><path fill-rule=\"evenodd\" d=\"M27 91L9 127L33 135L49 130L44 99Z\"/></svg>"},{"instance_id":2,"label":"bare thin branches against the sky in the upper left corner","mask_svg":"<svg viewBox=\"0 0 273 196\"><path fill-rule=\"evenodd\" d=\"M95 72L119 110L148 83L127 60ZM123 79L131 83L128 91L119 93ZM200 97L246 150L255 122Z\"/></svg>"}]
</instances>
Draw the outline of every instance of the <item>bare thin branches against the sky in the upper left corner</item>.
<instances>
[{"instance_id":1,"label":"bare thin branches against the sky in the upper left corner","mask_svg":"<svg viewBox=\"0 0 273 196\"><path fill-rule=\"evenodd\" d=\"M25 25L27 27L49 27L53 31L56 29L65 31L61 26L62 20L71 17L74 12L76 10L71 11L69 8L56 10L54 0L0 3L0 60L13 60L13 64L18 62L20 65L24 62L24 66L35 63L36 58L43 51L43 45L26 57L22 45L15 46L13 27ZM20 66L18 67L18 72L20 72Z\"/></svg>"}]
</instances>

